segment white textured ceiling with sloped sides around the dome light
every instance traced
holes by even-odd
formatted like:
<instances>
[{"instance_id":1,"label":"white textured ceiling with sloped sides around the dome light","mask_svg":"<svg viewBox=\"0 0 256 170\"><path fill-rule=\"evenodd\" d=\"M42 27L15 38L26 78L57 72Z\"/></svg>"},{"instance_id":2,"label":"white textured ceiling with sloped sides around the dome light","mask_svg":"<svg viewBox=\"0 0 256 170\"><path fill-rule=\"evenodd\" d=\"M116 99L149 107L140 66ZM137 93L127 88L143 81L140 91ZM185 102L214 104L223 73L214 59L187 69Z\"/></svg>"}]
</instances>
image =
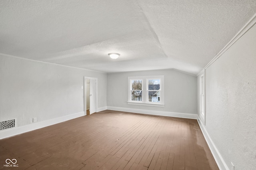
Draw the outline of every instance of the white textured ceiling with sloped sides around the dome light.
<instances>
[{"instance_id":1,"label":"white textured ceiling with sloped sides around the dome light","mask_svg":"<svg viewBox=\"0 0 256 170\"><path fill-rule=\"evenodd\" d=\"M102 72L197 74L255 13L256 0L1 0L0 53Z\"/></svg>"}]
</instances>

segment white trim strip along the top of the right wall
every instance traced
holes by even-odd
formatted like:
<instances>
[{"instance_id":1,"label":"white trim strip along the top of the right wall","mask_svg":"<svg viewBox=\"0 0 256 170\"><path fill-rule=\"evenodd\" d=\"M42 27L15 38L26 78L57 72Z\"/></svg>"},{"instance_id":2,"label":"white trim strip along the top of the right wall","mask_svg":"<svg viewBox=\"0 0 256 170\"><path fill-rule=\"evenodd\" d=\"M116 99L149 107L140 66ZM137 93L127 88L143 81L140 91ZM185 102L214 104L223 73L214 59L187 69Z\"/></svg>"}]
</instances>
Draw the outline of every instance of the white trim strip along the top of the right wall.
<instances>
[{"instance_id":1,"label":"white trim strip along the top of the right wall","mask_svg":"<svg viewBox=\"0 0 256 170\"><path fill-rule=\"evenodd\" d=\"M238 39L240 39L247 31L249 31L256 24L256 14L238 31L238 33L228 42L228 44L208 63L204 69L212 65L220 56L222 56ZM204 70L203 69L203 70ZM200 75L200 72L197 76Z\"/></svg>"}]
</instances>

